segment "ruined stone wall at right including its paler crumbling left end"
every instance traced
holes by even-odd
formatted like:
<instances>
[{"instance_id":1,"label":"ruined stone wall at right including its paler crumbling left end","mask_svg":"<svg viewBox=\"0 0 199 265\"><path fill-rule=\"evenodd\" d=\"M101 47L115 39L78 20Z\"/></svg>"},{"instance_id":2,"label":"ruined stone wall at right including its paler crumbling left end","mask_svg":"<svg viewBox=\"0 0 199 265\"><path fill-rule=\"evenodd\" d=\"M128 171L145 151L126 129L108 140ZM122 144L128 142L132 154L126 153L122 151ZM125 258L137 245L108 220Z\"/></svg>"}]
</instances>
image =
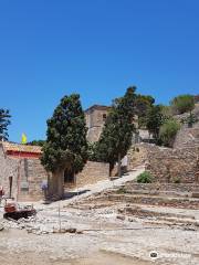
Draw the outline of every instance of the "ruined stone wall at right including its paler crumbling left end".
<instances>
[{"instance_id":1,"label":"ruined stone wall at right including its paler crumbling left end","mask_svg":"<svg viewBox=\"0 0 199 265\"><path fill-rule=\"evenodd\" d=\"M163 148L149 144L135 145L128 151L128 170L145 165L157 182L198 183L199 148Z\"/></svg>"}]
</instances>

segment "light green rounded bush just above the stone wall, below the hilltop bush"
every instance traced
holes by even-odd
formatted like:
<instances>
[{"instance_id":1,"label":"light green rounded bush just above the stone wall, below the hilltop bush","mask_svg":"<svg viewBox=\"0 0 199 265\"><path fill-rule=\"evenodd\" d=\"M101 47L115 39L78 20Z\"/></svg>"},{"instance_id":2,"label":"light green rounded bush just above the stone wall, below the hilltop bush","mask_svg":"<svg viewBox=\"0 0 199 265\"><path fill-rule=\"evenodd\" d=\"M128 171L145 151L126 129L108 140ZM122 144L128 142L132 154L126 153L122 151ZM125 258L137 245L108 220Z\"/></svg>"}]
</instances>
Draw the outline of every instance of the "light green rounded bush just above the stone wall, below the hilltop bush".
<instances>
[{"instance_id":1,"label":"light green rounded bush just above the stone wall, below the hilltop bush","mask_svg":"<svg viewBox=\"0 0 199 265\"><path fill-rule=\"evenodd\" d=\"M174 140L178 130L180 129L180 124L176 119L166 120L159 130L159 138L164 146L172 147Z\"/></svg>"}]
</instances>

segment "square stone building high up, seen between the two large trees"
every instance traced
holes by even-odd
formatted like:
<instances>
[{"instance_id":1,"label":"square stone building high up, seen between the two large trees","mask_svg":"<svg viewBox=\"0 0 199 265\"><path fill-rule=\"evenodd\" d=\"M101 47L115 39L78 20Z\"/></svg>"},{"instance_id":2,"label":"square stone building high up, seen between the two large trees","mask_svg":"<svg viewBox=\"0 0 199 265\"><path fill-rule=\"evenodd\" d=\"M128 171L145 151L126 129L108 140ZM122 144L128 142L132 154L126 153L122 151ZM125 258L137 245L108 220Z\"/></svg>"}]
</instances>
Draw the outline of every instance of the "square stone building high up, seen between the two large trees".
<instances>
[{"instance_id":1,"label":"square stone building high up, seen between the two large trees","mask_svg":"<svg viewBox=\"0 0 199 265\"><path fill-rule=\"evenodd\" d=\"M111 107L107 106L93 105L85 110L88 141L95 142L98 140L109 109Z\"/></svg>"}]
</instances>

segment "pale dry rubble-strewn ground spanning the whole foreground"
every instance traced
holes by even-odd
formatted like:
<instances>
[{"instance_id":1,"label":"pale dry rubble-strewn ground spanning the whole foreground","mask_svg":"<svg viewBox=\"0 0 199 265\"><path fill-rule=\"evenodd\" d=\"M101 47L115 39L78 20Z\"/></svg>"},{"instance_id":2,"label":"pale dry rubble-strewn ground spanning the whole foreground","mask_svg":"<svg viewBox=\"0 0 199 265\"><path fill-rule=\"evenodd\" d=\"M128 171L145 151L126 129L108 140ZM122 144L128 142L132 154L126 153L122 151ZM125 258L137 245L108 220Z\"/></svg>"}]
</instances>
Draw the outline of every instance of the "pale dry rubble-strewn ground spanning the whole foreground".
<instances>
[{"instance_id":1,"label":"pale dry rubble-strewn ground spanning the whole foreground","mask_svg":"<svg viewBox=\"0 0 199 265\"><path fill-rule=\"evenodd\" d=\"M111 201L106 193L62 201L60 205L62 233L57 233L57 202L35 203L36 218L19 222L2 220L1 208L4 230L0 232L0 264L199 264L196 209ZM157 259L150 257L153 251Z\"/></svg>"}]
</instances>

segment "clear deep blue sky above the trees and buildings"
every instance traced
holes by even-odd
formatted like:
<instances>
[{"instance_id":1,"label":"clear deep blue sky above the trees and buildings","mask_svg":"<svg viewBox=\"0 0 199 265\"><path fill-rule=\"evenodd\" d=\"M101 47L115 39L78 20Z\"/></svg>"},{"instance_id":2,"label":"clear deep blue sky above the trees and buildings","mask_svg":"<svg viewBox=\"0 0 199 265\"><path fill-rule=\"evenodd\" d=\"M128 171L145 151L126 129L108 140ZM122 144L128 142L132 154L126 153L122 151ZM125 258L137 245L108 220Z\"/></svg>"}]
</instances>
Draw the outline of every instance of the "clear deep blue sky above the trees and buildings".
<instances>
[{"instance_id":1,"label":"clear deep blue sky above the trees and buildings","mask_svg":"<svg viewBox=\"0 0 199 265\"><path fill-rule=\"evenodd\" d=\"M0 0L0 107L10 140L44 139L65 94L111 104L129 85L199 94L199 0Z\"/></svg>"}]
</instances>

